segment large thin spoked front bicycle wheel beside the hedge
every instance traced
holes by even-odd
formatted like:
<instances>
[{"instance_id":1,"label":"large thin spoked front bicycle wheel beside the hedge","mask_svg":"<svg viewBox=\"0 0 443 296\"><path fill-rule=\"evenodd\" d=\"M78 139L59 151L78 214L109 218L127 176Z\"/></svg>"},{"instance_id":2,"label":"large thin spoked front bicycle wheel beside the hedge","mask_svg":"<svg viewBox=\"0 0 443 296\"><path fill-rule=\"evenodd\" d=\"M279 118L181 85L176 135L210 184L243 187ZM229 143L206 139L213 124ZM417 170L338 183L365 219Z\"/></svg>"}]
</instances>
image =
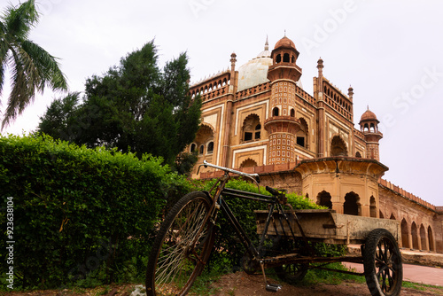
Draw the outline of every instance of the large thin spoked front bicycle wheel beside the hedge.
<instances>
[{"instance_id":1,"label":"large thin spoked front bicycle wheel beside the hedge","mask_svg":"<svg viewBox=\"0 0 443 296\"><path fill-rule=\"evenodd\" d=\"M169 211L152 245L146 271L148 296L185 295L206 265L214 245L206 221L212 200L191 192Z\"/></svg>"}]
</instances>

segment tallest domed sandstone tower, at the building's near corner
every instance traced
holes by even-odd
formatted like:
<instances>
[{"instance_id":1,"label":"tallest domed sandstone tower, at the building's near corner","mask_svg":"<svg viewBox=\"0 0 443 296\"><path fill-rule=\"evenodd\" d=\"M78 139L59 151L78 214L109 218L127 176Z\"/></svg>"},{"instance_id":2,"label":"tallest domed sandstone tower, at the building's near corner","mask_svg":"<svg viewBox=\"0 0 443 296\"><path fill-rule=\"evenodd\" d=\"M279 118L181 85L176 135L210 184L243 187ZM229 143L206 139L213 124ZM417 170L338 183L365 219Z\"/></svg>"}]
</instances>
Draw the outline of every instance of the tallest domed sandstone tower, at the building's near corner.
<instances>
[{"instance_id":1,"label":"tallest domed sandstone tower, at the building's near corner","mask_svg":"<svg viewBox=\"0 0 443 296\"><path fill-rule=\"evenodd\" d=\"M300 122L295 117L295 83L301 76L296 65L299 51L286 36L280 39L271 52L272 65L268 69L271 84L269 116L264 128L269 134L268 164L295 162L296 134Z\"/></svg>"}]
</instances>

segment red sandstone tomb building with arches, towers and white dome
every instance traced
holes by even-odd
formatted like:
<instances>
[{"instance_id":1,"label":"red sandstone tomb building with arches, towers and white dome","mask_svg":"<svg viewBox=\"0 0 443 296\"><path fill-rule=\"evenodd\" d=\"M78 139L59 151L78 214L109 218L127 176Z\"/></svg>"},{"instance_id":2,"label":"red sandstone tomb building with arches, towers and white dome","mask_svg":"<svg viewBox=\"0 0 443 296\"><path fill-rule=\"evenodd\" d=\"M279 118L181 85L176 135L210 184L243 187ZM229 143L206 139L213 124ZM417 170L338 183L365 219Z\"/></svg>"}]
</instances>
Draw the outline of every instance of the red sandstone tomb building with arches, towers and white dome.
<instances>
[{"instance_id":1,"label":"red sandstone tomb building with arches, towers and white dome","mask_svg":"<svg viewBox=\"0 0 443 296\"><path fill-rule=\"evenodd\" d=\"M443 208L381 177L377 116L369 109L354 129L353 96L338 90L317 63L314 94L303 90L294 43L284 36L236 69L190 88L203 99L202 124L189 150L203 160L260 174L262 183L307 196L338 213L401 222L400 245L443 253ZM208 168L192 177L214 177Z\"/></svg>"}]
</instances>

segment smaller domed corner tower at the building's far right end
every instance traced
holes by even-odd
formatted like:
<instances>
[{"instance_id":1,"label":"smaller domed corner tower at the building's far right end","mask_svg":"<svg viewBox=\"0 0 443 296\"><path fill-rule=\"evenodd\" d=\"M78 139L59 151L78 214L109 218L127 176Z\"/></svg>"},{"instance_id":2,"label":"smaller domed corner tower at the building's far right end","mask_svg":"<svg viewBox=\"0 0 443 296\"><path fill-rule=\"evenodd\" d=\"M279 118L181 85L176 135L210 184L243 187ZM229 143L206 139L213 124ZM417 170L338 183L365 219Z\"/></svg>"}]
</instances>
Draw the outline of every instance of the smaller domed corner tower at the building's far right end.
<instances>
[{"instance_id":1,"label":"smaller domed corner tower at the building's far right end","mask_svg":"<svg viewBox=\"0 0 443 296\"><path fill-rule=\"evenodd\" d=\"M380 160L379 144L378 142L383 137L383 134L378 131L378 123L376 114L369 110L361 115L360 130L366 140L366 158L372 160Z\"/></svg>"}]
</instances>

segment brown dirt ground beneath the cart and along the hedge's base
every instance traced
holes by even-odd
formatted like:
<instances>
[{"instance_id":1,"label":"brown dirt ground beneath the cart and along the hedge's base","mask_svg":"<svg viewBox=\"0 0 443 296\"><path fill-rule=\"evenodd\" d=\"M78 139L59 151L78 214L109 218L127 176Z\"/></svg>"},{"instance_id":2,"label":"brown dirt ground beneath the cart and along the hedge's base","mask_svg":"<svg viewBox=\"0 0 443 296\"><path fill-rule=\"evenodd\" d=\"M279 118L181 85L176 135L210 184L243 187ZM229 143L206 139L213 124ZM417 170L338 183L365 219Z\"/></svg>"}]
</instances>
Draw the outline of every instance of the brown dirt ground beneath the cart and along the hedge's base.
<instances>
[{"instance_id":1,"label":"brown dirt ground beneath the cart and along the hedge's base","mask_svg":"<svg viewBox=\"0 0 443 296\"><path fill-rule=\"evenodd\" d=\"M269 280L273 283L272 280ZM317 284L312 286L291 286L284 284L281 291L273 293L265 290L261 275L249 276L245 272L237 272L221 277L214 283L217 292L214 296L370 296L366 284L343 282L338 285ZM134 291L134 284L111 285L89 290L35 291L35 292L0 292L0 295L11 296L129 296ZM401 296L443 295L439 288L426 287L426 290L402 288Z\"/></svg>"}]
</instances>

